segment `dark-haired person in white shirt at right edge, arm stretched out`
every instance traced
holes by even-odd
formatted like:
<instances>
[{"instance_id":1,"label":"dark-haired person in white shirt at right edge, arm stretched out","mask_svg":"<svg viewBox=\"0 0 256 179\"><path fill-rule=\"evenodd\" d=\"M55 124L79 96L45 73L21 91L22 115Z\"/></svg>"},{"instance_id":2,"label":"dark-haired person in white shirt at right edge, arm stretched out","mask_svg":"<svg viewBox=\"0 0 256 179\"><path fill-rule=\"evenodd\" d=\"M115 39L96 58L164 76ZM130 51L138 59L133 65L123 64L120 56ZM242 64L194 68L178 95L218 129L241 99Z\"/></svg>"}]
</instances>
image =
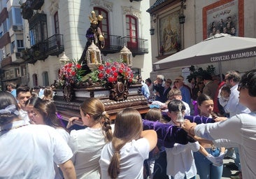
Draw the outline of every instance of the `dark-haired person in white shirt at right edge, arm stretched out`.
<instances>
[{"instance_id":1,"label":"dark-haired person in white shirt at right edge, arm stretched out","mask_svg":"<svg viewBox=\"0 0 256 179\"><path fill-rule=\"evenodd\" d=\"M195 124L188 120L183 129L190 135L213 141L216 146L238 147L243 178L256 177L256 69L245 73L239 82L239 102L251 113L234 115L222 122Z\"/></svg>"}]
</instances>

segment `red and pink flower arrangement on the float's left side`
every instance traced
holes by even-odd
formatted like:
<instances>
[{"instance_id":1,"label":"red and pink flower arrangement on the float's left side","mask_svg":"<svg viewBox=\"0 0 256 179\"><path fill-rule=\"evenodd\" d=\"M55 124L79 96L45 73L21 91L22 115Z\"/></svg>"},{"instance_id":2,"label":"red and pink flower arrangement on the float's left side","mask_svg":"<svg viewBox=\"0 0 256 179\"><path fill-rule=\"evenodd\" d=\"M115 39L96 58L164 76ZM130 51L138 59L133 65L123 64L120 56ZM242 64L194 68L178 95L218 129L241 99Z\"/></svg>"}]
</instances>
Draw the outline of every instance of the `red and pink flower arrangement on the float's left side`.
<instances>
[{"instance_id":1,"label":"red and pink flower arrangement on the float's left side","mask_svg":"<svg viewBox=\"0 0 256 179\"><path fill-rule=\"evenodd\" d=\"M78 60L73 59L71 62L64 64L59 70L58 84L63 87L80 83L83 78L83 71L82 64Z\"/></svg>"}]
</instances>

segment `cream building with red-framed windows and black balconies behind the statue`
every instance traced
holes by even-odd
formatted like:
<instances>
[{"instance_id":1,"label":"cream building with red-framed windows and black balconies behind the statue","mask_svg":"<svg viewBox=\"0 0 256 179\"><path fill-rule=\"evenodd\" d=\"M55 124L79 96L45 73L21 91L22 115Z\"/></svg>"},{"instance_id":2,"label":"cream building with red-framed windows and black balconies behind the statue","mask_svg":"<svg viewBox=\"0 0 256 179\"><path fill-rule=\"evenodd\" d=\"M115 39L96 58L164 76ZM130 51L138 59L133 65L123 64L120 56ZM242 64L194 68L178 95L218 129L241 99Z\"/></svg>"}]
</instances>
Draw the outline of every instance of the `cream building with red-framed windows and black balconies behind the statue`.
<instances>
[{"instance_id":1,"label":"cream building with red-framed windows and black balconies behind the statue","mask_svg":"<svg viewBox=\"0 0 256 179\"><path fill-rule=\"evenodd\" d=\"M22 1L24 83L30 87L50 85L58 78L59 58L65 54L69 59L80 59L92 10L104 16L100 26L105 37L105 46L100 48L102 59L119 59L126 45L134 56L131 68L148 78L152 71L150 15L145 10L149 7L148 1L128 0ZM8 71L4 66L2 69Z\"/></svg>"}]
</instances>

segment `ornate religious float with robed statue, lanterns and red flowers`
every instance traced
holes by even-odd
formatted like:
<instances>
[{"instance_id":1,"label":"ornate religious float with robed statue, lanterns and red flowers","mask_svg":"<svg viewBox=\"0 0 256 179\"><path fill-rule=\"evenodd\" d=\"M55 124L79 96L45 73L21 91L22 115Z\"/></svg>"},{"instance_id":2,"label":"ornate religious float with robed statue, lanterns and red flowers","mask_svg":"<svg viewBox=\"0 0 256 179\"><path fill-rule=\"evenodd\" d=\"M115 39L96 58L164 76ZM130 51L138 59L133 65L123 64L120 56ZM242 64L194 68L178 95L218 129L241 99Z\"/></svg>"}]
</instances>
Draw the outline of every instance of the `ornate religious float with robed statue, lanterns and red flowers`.
<instances>
[{"instance_id":1,"label":"ornate religious float with robed statue, lanterns and red flowers","mask_svg":"<svg viewBox=\"0 0 256 179\"><path fill-rule=\"evenodd\" d=\"M80 115L80 103L95 97L104 103L106 112L115 119L116 113L127 107L136 108L141 114L148 112L148 101L141 94L141 79L134 79L132 55L124 46L120 59L102 62L98 48L104 46L98 17L92 11L91 27L87 30L87 43L79 60L70 60L64 54L59 70L59 87L54 97L57 110L63 120ZM76 124L82 125L81 121Z\"/></svg>"}]
</instances>

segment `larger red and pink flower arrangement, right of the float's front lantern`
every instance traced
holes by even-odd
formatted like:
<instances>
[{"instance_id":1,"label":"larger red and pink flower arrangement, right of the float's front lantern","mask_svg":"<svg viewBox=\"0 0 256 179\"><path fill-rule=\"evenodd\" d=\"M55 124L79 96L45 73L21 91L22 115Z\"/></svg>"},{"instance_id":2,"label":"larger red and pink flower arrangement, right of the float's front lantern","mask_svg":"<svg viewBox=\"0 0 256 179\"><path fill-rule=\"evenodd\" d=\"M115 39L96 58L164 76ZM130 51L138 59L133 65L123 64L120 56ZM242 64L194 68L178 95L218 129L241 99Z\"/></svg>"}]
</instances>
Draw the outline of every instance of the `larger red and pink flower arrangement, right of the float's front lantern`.
<instances>
[{"instance_id":1,"label":"larger red and pink flower arrangement, right of the float's front lantern","mask_svg":"<svg viewBox=\"0 0 256 179\"><path fill-rule=\"evenodd\" d=\"M134 71L123 62L106 61L98 66L96 72L101 84L105 86L118 83L118 81L131 83L134 78Z\"/></svg>"}]
</instances>

